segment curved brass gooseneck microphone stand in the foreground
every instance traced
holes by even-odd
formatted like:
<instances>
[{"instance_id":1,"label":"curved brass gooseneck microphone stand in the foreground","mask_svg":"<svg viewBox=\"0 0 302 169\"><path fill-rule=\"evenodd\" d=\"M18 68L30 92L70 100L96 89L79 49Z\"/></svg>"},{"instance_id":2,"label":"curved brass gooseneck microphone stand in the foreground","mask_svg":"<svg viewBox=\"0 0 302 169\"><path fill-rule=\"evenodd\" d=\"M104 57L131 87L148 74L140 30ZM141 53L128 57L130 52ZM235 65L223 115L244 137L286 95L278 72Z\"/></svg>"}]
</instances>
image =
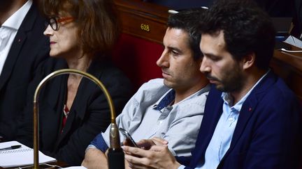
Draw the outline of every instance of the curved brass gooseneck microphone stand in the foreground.
<instances>
[{"instance_id":1,"label":"curved brass gooseneck microphone stand in the foreground","mask_svg":"<svg viewBox=\"0 0 302 169\"><path fill-rule=\"evenodd\" d=\"M117 128L117 124L115 122L115 108L113 106L113 101L108 93L108 90L105 88L103 83L99 81L99 79L96 79L96 77L92 76L92 74L88 74L86 72L82 72L80 70L72 70L72 69L64 69L64 70L57 70L55 72L52 72L51 74L48 74L47 77L45 77L36 88L36 91L34 93L34 169L39 168L38 163L38 143L39 143L39 132L38 132L38 95L40 93L40 90L43 86L45 86L45 83L48 82L50 79L59 76L60 74L78 74L82 77L86 77L87 79L93 81L96 83L99 88L104 92L107 102L109 104L110 108L110 115L111 115L111 124L110 124L110 148L108 152L108 168L109 169L120 169L124 168L124 152L122 151L122 148L120 147L120 134L119 130Z\"/></svg>"}]
</instances>

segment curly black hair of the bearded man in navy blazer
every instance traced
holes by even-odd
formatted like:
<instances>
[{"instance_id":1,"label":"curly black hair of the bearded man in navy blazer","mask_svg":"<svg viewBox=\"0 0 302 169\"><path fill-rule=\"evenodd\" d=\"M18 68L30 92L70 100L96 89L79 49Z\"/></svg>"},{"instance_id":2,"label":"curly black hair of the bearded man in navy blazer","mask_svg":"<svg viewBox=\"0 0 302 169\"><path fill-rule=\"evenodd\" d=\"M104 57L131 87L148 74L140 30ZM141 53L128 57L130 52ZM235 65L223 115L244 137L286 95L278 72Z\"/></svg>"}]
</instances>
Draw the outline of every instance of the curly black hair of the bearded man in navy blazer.
<instances>
[{"instance_id":1,"label":"curly black hair of the bearded man in navy blazer","mask_svg":"<svg viewBox=\"0 0 302 169\"><path fill-rule=\"evenodd\" d=\"M223 31L226 49L236 61L254 52L256 66L268 69L275 29L270 17L253 1L216 1L201 19L199 29L210 35Z\"/></svg>"}]
</instances>

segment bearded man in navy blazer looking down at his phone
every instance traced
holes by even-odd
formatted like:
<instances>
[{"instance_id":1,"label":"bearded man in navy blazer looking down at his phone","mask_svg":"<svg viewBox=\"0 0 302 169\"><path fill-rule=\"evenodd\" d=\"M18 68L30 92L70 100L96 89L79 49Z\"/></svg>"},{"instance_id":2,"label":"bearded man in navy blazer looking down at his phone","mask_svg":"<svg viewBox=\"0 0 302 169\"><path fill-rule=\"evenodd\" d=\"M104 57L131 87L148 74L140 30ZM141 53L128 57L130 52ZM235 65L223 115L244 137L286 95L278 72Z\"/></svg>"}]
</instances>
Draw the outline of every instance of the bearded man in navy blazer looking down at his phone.
<instances>
[{"instance_id":1,"label":"bearded man in navy blazer looking down at his phone","mask_svg":"<svg viewBox=\"0 0 302 169\"><path fill-rule=\"evenodd\" d=\"M297 168L301 106L268 65L275 31L268 15L247 1L219 1L200 26L201 72L213 83L190 157L144 140L124 146L131 168Z\"/></svg>"}]
</instances>

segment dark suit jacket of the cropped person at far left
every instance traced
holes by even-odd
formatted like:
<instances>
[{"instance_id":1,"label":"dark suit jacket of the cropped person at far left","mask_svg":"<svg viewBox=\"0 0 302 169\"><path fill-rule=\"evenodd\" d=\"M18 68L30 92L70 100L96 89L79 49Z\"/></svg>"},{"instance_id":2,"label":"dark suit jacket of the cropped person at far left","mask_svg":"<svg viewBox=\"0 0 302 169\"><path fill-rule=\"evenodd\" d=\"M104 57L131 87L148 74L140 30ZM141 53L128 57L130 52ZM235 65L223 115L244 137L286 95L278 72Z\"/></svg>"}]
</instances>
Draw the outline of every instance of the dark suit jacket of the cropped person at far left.
<instances>
[{"instance_id":1,"label":"dark suit jacket of the cropped person at far left","mask_svg":"<svg viewBox=\"0 0 302 169\"><path fill-rule=\"evenodd\" d=\"M28 84L38 64L48 58L49 38L43 35L44 30L44 19L33 4L15 35L0 75L0 136L4 141L13 140Z\"/></svg>"}]
</instances>

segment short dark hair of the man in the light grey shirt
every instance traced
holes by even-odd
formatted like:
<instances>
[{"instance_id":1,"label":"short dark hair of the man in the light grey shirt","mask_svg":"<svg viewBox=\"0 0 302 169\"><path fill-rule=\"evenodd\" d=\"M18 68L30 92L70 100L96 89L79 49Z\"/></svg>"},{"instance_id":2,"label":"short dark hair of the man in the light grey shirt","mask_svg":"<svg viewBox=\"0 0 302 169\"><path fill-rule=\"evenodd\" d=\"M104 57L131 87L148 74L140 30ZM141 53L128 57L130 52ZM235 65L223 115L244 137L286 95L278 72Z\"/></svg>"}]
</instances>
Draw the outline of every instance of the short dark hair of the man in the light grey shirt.
<instances>
[{"instance_id":1,"label":"short dark hair of the man in the light grey shirt","mask_svg":"<svg viewBox=\"0 0 302 169\"><path fill-rule=\"evenodd\" d=\"M191 47L194 53L194 59L201 58L202 56L199 48L201 33L198 30L198 21L201 19L204 10L203 8L181 10L179 13L168 17L168 28L182 29L189 34L189 47Z\"/></svg>"}]
</instances>

